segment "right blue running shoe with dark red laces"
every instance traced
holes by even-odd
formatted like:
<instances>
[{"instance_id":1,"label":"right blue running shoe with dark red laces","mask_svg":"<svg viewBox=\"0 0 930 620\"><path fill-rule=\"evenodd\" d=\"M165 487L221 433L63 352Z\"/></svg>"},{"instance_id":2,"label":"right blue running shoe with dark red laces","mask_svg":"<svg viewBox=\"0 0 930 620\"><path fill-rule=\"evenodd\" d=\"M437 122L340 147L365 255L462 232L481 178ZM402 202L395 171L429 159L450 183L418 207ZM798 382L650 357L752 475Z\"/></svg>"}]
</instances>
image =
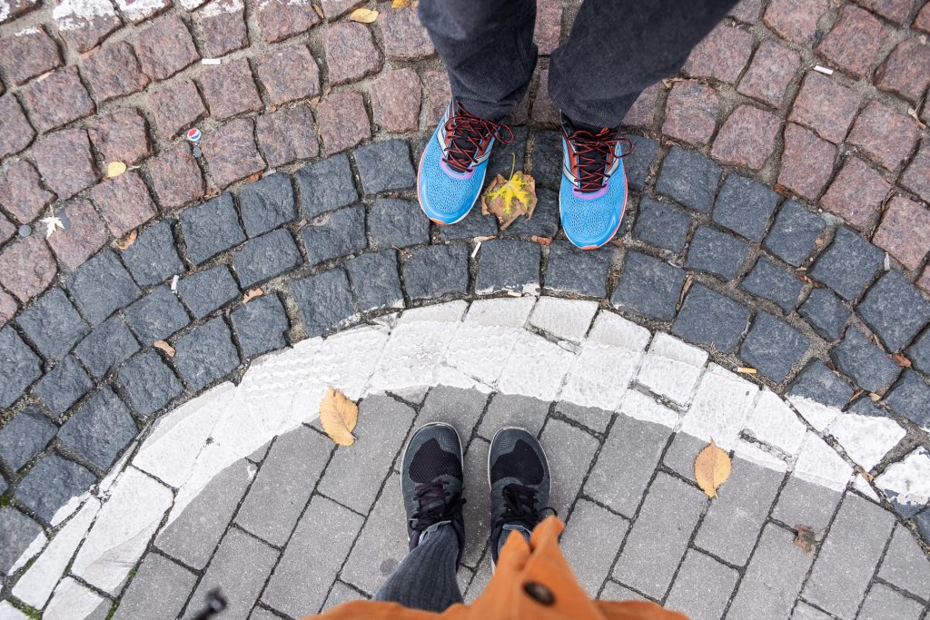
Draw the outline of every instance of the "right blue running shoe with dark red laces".
<instances>
[{"instance_id":1,"label":"right blue running shoe with dark red laces","mask_svg":"<svg viewBox=\"0 0 930 620\"><path fill-rule=\"evenodd\" d=\"M601 247L620 228L627 204L623 158L632 152L618 129L576 129L562 116L559 213L565 236L583 250ZM624 146L627 147L624 152Z\"/></svg>"}]
</instances>

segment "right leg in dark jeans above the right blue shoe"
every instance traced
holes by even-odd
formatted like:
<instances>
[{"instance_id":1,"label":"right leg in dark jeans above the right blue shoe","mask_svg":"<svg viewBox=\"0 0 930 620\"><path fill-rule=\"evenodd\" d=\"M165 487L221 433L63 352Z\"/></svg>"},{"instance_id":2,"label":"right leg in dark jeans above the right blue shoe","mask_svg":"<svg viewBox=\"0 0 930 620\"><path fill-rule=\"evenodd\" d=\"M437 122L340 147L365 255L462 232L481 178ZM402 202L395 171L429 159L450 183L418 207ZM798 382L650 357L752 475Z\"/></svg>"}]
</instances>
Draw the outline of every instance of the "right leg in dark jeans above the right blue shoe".
<instances>
[{"instance_id":1,"label":"right leg in dark jeans above the right blue shoe","mask_svg":"<svg viewBox=\"0 0 930 620\"><path fill-rule=\"evenodd\" d=\"M678 73L737 0L585 0L552 53L549 95L576 124L617 127L646 86Z\"/></svg>"}]
</instances>

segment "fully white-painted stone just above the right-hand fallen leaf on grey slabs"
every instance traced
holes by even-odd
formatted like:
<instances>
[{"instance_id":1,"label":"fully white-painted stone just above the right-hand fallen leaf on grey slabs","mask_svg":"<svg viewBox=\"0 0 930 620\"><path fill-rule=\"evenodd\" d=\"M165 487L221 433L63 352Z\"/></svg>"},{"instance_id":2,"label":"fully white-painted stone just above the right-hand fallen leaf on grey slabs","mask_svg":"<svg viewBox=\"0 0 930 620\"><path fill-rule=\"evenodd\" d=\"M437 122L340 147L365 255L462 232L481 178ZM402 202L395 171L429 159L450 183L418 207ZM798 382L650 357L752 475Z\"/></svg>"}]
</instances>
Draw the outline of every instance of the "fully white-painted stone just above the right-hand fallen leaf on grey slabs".
<instances>
[{"instance_id":1,"label":"fully white-painted stone just above the right-hand fallen leaf on grey slabs","mask_svg":"<svg viewBox=\"0 0 930 620\"><path fill-rule=\"evenodd\" d=\"M682 417L681 430L729 450L736 445L758 393L755 384L711 363Z\"/></svg>"}]
</instances>

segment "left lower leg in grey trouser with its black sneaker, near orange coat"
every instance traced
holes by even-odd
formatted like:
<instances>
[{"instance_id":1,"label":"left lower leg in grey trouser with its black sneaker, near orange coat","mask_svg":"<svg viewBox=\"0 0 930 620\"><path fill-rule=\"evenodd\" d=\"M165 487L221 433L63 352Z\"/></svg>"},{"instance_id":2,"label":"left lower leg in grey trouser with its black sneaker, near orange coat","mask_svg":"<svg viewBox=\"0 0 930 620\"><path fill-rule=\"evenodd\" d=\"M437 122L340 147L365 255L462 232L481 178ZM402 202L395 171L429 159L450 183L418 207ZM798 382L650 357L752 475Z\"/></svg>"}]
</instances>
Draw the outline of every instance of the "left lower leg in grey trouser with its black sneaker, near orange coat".
<instances>
[{"instance_id":1,"label":"left lower leg in grey trouser with its black sneaker, near orange coat","mask_svg":"<svg viewBox=\"0 0 930 620\"><path fill-rule=\"evenodd\" d=\"M462 601L456 572L465 547L463 484L456 429L438 422L417 429L401 462L410 553L375 600L436 613Z\"/></svg>"}]
</instances>

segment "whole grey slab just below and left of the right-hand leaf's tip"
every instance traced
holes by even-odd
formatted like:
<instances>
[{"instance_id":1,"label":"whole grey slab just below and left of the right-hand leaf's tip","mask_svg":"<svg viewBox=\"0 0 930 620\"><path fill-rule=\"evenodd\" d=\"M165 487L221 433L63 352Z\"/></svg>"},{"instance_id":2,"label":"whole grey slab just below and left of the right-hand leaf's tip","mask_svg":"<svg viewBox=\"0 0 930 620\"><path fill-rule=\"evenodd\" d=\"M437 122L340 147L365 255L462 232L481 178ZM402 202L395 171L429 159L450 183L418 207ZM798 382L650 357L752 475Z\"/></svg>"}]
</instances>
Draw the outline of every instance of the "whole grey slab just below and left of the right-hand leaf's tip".
<instances>
[{"instance_id":1,"label":"whole grey slab just below and left of the right-hand leaf's tip","mask_svg":"<svg viewBox=\"0 0 930 620\"><path fill-rule=\"evenodd\" d=\"M658 474L614 568L614 578L657 599L665 596L684 557L707 497L668 474Z\"/></svg>"}]
</instances>

